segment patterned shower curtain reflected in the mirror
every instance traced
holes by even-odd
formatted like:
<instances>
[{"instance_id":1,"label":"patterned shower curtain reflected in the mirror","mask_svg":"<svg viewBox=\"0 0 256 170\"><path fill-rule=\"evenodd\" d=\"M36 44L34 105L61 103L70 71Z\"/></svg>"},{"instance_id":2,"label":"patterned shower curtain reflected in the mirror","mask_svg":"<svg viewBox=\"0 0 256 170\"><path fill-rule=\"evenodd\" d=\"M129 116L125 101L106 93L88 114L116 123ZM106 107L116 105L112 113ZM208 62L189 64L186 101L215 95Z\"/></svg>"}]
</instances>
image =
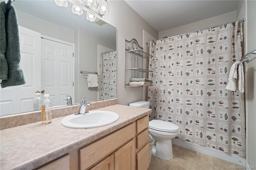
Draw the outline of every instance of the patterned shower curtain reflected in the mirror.
<instances>
[{"instance_id":1,"label":"patterned shower curtain reflected in the mirror","mask_svg":"<svg viewBox=\"0 0 256 170\"><path fill-rule=\"evenodd\" d=\"M101 53L100 100L116 98L116 51Z\"/></svg>"}]
</instances>

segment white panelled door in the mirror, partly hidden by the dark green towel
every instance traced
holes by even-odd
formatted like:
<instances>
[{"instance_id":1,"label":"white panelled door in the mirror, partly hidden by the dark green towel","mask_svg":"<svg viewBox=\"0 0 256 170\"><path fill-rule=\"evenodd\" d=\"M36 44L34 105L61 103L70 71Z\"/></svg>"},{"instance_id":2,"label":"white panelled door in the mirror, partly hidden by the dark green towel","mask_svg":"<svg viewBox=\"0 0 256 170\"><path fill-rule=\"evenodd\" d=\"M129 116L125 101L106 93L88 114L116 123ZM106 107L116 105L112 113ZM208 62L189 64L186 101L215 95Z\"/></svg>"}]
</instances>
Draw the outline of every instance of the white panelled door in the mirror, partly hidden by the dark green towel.
<instances>
[{"instance_id":1,"label":"white panelled door in the mirror, partly hidden by the dark green towel","mask_svg":"<svg viewBox=\"0 0 256 170\"><path fill-rule=\"evenodd\" d=\"M41 34L19 26L20 67L26 84L0 89L0 115L33 110L35 92L40 91Z\"/></svg>"}]
</instances>

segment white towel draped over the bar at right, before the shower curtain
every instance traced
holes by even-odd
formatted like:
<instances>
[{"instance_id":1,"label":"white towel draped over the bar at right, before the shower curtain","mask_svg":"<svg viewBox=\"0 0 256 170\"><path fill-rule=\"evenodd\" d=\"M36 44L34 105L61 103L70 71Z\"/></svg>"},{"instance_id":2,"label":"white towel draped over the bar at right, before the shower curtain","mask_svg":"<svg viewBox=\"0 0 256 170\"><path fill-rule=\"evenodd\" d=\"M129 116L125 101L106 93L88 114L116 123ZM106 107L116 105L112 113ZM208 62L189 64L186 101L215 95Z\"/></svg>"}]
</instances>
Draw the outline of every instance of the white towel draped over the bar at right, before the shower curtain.
<instances>
[{"instance_id":1,"label":"white towel draped over the bar at right, before the shower curtain","mask_svg":"<svg viewBox=\"0 0 256 170\"><path fill-rule=\"evenodd\" d=\"M244 66L238 63L239 61L235 62L230 68L226 89L244 93Z\"/></svg>"}]
</instances>

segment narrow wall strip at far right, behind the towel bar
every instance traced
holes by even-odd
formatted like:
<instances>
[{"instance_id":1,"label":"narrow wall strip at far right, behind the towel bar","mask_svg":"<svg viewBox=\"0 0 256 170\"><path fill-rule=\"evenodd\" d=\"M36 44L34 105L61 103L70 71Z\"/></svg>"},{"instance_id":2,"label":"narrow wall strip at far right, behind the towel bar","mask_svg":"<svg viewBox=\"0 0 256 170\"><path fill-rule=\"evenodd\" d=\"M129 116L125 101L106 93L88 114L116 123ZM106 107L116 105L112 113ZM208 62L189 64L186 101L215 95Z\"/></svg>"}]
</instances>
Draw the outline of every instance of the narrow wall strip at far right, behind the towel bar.
<instances>
[{"instance_id":1,"label":"narrow wall strip at far right, behind the towel bar","mask_svg":"<svg viewBox=\"0 0 256 170\"><path fill-rule=\"evenodd\" d=\"M256 50L256 1L245 1L245 52ZM256 55L245 63L247 165L256 167Z\"/></svg>"}]
</instances>

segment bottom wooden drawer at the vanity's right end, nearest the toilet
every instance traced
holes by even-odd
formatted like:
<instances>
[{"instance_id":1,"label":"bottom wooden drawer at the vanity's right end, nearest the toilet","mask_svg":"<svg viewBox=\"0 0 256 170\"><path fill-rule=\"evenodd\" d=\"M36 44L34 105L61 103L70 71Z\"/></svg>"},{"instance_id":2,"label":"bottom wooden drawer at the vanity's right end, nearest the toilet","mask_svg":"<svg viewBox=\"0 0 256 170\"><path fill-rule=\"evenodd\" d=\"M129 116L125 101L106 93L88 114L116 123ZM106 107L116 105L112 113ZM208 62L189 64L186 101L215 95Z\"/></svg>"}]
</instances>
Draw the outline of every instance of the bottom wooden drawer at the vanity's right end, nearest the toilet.
<instances>
[{"instance_id":1,"label":"bottom wooden drawer at the vanity's right end, nearest the toilet","mask_svg":"<svg viewBox=\"0 0 256 170\"><path fill-rule=\"evenodd\" d=\"M149 144L146 144L140 152L136 154L136 169L147 170L149 168Z\"/></svg>"}]
</instances>

